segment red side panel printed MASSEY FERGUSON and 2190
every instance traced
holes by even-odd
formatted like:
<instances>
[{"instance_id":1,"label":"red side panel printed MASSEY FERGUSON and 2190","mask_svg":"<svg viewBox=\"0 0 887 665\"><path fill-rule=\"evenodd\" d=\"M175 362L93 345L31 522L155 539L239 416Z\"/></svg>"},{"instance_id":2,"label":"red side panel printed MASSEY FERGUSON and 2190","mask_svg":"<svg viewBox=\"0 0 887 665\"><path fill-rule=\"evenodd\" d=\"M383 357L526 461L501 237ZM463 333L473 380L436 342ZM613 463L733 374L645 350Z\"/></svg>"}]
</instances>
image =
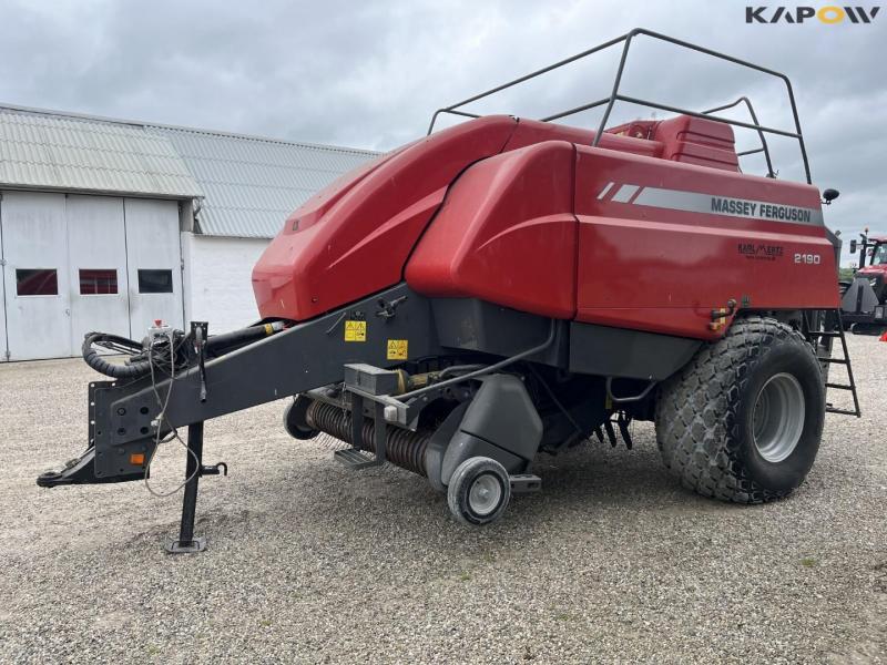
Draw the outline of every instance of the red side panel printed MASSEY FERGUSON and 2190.
<instances>
[{"instance_id":1,"label":"red side panel printed MASSEY FERGUSON and 2190","mask_svg":"<svg viewBox=\"0 0 887 665\"><path fill-rule=\"evenodd\" d=\"M712 309L835 308L835 255L824 226L639 204L646 187L820 211L815 187L690 164L577 149L577 318L713 338ZM611 182L639 186L616 202ZM621 184L620 183L620 184ZM751 248L750 248L751 245ZM818 263L795 263L816 256Z\"/></svg>"}]
</instances>

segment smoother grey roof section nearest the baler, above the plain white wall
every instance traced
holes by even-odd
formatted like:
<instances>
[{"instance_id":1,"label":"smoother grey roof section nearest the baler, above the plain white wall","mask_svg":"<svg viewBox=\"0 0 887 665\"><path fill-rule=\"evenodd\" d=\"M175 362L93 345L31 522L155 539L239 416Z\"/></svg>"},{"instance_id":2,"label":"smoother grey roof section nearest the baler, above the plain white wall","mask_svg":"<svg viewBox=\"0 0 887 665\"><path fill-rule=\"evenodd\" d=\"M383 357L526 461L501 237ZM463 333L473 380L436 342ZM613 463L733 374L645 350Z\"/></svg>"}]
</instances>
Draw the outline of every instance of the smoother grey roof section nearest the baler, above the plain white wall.
<instances>
[{"instance_id":1,"label":"smoother grey roof section nearest the baler, above the plain white wall","mask_svg":"<svg viewBox=\"0 0 887 665\"><path fill-rule=\"evenodd\" d=\"M379 153L149 125L169 139L205 198L205 235L271 238L317 191Z\"/></svg>"}]
</instances>

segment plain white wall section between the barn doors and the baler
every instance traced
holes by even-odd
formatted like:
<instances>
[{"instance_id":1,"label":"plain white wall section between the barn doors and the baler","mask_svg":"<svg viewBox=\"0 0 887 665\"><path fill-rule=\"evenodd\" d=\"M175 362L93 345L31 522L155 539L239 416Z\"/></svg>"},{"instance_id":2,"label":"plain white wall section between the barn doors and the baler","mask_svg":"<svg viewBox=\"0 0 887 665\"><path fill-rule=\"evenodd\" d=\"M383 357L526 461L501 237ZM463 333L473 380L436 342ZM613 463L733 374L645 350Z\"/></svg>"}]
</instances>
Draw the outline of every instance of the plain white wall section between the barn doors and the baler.
<instances>
[{"instance_id":1,"label":"plain white wall section between the barn doors and the baler","mask_svg":"<svg viewBox=\"0 0 887 665\"><path fill-rule=\"evenodd\" d=\"M210 321L210 335L258 320L252 274L269 242L183 233L187 320Z\"/></svg>"}]
</instances>

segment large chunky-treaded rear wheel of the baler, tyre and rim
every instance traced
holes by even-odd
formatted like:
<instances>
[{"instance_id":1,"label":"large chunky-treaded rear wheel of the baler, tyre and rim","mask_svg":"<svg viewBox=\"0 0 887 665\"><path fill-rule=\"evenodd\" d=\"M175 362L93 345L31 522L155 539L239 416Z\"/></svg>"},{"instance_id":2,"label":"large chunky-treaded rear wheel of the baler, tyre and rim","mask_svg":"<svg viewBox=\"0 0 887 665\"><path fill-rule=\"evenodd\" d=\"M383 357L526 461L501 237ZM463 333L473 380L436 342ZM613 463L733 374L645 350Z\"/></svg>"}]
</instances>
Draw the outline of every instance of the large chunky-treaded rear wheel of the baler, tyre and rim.
<instances>
[{"instance_id":1,"label":"large chunky-treaded rear wheel of the baler, tyre and rim","mask_svg":"<svg viewBox=\"0 0 887 665\"><path fill-rule=\"evenodd\" d=\"M704 497L788 495L819 448L825 386L804 338L771 318L736 320L663 385L656 441L665 467Z\"/></svg>"}]
</instances>

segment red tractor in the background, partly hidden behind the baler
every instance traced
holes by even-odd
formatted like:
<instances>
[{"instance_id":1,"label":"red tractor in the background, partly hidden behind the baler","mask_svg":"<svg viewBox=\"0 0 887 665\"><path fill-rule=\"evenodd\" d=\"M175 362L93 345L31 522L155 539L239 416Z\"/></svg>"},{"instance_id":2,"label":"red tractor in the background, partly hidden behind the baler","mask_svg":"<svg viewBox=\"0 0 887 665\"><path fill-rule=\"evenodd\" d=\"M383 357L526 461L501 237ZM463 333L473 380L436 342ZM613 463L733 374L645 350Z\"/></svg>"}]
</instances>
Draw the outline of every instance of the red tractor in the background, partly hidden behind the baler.
<instances>
[{"instance_id":1,"label":"red tractor in the background, partly hidden behind the baler","mask_svg":"<svg viewBox=\"0 0 887 665\"><path fill-rule=\"evenodd\" d=\"M887 236L850 241L850 254L859 250L859 267L852 280L840 284L844 325L858 335L880 335L887 330Z\"/></svg>"}]
</instances>

